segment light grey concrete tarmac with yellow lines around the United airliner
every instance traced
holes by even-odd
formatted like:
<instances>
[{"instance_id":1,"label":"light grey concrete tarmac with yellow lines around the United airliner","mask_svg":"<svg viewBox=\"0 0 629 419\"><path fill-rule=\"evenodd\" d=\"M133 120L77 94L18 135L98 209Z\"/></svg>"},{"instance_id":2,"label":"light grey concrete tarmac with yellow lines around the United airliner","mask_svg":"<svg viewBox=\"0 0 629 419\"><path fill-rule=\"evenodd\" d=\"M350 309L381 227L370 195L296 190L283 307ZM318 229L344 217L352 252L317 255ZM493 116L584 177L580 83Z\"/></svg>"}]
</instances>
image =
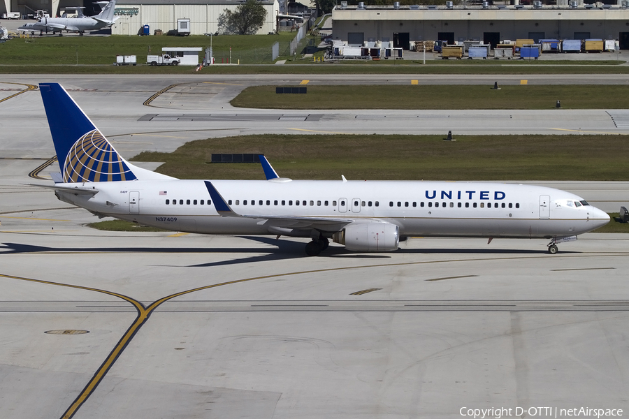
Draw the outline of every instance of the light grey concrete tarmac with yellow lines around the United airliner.
<instances>
[{"instance_id":1,"label":"light grey concrete tarmac with yellow lines around the United airliner","mask_svg":"<svg viewBox=\"0 0 629 419\"><path fill-rule=\"evenodd\" d=\"M148 84L76 79L64 84L126 156L214 125L140 121ZM90 84L103 91L78 91ZM554 256L544 240L418 237L307 258L300 239L92 230L89 212L23 185L44 182L29 173L54 154L38 92L0 106L2 418L629 409L629 235L583 235ZM556 186L627 197L623 183Z\"/></svg>"}]
</instances>

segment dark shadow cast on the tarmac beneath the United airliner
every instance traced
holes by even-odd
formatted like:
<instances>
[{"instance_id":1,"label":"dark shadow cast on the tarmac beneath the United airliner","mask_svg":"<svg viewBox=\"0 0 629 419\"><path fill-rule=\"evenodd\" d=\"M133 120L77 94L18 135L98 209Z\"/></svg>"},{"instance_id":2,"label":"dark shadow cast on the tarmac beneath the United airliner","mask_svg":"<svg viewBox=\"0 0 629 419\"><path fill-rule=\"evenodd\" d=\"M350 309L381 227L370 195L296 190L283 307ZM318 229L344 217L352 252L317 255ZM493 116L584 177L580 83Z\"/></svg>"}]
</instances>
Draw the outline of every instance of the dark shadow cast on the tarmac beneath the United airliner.
<instances>
[{"instance_id":1,"label":"dark shadow cast on the tarmac beneath the United airliner","mask_svg":"<svg viewBox=\"0 0 629 419\"><path fill-rule=\"evenodd\" d=\"M188 267L212 267L222 265L240 265L243 263L266 262L272 260L288 260L306 258L303 251L303 242L291 240L279 240L271 237L243 237L262 244L268 244L272 249L261 247L234 247L234 248L207 248L207 247L43 247L32 244L3 243L0 244L0 255L15 253L42 253L42 252L101 252L101 253L236 253L238 255L251 256L231 260L219 260L216 262L189 265ZM263 254L260 254L263 253ZM396 254L484 254L484 255L538 255L545 251L533 249L407 249L400 248ZM562 253L579 253L578 251L562 251ZM366 254L349 253L342 247L328 247L326 251L317 256L318 259L343 258L343 259L389 259L390 254ZM175 266L175 265L162 265Z\"/></svg>"}]
</instances>

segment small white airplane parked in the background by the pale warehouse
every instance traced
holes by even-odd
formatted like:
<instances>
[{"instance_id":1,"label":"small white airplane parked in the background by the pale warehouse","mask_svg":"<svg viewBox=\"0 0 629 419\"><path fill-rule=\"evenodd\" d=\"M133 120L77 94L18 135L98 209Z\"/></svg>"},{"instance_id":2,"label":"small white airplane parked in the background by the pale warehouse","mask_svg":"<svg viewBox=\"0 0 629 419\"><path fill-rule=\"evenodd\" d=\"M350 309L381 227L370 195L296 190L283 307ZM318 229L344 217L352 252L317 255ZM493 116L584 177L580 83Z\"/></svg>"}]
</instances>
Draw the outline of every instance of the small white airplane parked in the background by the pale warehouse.
<instances>
[{"instance_id":1,"label":"small white airplane parked in the background by the pale warehouse","mask_svg":"<svg viewBox=\"0 0 629 419\"><path fill-rule=\"evenodd\" d=\"M90 17L42 17L39 22L27 23L17 28L18 31L39 31L42 32L52 31L52 34L59 32L59 36L63 35L63 31L78 32L80 35L85 31L96 31L103 28L111 27L117 17L114 17L114 10L116 8L116 0L111 0L101 13L96 16Z\"/></svg>"}]
</instances>

